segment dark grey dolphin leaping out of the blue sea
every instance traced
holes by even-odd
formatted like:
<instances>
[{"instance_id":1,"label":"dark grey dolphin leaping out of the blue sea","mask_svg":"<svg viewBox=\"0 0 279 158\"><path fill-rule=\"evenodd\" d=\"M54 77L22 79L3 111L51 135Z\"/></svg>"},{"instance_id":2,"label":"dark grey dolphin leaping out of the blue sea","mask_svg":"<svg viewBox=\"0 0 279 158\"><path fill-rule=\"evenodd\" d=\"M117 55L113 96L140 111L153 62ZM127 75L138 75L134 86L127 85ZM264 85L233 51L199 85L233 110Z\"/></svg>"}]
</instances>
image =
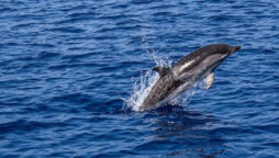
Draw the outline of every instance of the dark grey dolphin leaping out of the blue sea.
<instances>
[{"instance_id":1,"label":"dark grey dolphin leaping out of the blue sea","mask_svg":"<svg viewBox=\"0 0 279 158\"><path fill-rule=\"evenodd\" d=\"M212 87L214 70L241 46L212 44L204 46L180 59L171 68L155 67L160 78L145 98L140 111L149 111L178 97L207 78L207 89Z\"/></svg>"}]
</instances>

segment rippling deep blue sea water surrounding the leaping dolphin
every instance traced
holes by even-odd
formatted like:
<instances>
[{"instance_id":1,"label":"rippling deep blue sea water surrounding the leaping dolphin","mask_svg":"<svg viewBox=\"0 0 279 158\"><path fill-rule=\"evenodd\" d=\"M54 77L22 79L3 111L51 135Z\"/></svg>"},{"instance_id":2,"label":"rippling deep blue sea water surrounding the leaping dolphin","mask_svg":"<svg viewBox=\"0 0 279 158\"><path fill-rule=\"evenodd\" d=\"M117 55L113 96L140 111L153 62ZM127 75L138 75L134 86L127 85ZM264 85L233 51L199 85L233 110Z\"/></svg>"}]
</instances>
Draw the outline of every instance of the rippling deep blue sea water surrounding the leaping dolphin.
<instances>
[{"instance_id":1,"label":"rippling deep blue sea water surrounding the leaping dolphin","mask_svg":"<svg viewBox=\"0 0 279 158\"><path fill-rule=\"evenodd\" d=\"M278 157L278 24L269 0L2 0L0 157ZM212 43L243 46L212 89L125 108L153 52Z\"/></svg>"}]
</instances>

